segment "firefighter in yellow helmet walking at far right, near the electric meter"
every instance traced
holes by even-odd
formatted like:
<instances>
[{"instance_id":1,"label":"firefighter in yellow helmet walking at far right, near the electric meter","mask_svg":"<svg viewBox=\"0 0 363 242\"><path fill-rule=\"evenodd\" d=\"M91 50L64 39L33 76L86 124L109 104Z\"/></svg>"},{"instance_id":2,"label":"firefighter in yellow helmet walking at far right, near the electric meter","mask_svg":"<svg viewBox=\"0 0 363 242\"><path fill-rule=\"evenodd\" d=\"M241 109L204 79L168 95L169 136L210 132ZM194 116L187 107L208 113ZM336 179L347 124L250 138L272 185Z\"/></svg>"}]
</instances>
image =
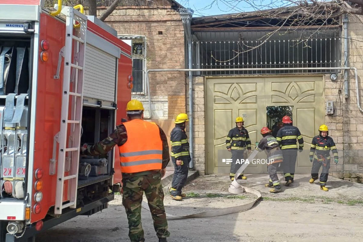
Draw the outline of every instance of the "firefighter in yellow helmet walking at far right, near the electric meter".
<instances>
[{"instance_id":1,"label":"firefighter in yellow helmet walking at far right, near the electric meter","mask_svg":"<svg viewBox=\"0 0 363 242\"><path fill-rule=\"evenodd\" d=\"M311 179L310 183L314 183L318 179L319 169L323 166L322 172L320 174L320 189L323 191L328 191L326 186L326 181L328 180L329 168L330 168L330 151L333 152L334 162L338 164L338 151L335 146L334 140L328 136L329 129L325 124L319 127L319 135L315 136L311 141L310 145L310 162L313 162L313 167L311 168Z\"/></svg>"}]
</instances>

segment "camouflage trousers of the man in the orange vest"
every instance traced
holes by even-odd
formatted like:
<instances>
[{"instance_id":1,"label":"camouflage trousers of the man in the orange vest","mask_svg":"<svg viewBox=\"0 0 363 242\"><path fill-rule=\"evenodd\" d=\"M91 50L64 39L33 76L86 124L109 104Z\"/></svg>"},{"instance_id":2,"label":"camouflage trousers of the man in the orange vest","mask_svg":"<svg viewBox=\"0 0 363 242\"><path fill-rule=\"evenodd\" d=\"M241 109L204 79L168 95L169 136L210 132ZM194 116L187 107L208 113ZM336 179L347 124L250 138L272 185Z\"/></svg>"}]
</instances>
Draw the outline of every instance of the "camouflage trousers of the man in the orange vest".
<instances>
[{"instance_id":1,"label":"camouflage trousers of the man in the orange vest","mask_svg":"<svg viewBox=\"0 0 363 242\"><path fill-rule=\"evenodd\" d=\"M156 236L170 236L164 209L164 192L161 184L161 174L133 176L122 179L122 204L125 206L129 221L129 237L131 242L144 242L144 230L141 225L141 202L143 193L148 201Z\"/></svg>"}]
</instances>

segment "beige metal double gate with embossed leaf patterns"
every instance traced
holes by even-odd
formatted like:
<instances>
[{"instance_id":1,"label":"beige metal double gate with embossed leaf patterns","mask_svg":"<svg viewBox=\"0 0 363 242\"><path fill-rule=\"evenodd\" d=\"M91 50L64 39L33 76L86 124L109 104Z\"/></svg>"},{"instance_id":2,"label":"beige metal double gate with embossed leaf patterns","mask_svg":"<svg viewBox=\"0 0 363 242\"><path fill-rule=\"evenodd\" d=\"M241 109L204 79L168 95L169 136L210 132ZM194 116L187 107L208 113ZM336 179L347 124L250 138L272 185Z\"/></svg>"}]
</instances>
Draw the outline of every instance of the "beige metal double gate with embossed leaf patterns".
<instances>
[{"instance_id":1,"label":"beige metal double gate with embossed leaf patterns","mask_svg":"<svg viewBox=\"0 0 363 242\"><path fill-rule=\"evenodd\" d=\"M237 116L245 119L252 149L266 126L267 106L293 106L294 126L301 131L305 150L325 122L324 77L236 77L207 78L207 173L229 173L230 164L222 159L231 157L225 147L228 131L235 127ZM310 173L308 152L299 153L295 173ZM256 159L265 159L264 152ZM252 164L245 173L265 173L266 165Z\"/></svg>"}]
</instances>

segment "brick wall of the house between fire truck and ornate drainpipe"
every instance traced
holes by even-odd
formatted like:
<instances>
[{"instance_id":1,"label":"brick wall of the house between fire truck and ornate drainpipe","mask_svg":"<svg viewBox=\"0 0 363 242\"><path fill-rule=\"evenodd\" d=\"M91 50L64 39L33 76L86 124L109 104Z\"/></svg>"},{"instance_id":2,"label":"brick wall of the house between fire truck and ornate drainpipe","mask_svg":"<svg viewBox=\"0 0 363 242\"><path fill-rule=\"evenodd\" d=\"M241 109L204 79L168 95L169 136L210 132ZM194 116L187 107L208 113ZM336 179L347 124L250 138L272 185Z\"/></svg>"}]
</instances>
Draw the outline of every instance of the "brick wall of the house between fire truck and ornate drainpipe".
<instances>
[{"instance_id":1,"label":"brick wall of the house between fire truck and ornate drainpipe","mask_svg":"<svg viewBox=\"0 0 363 242\"><path fill-rule=\"evenodd\" d=\"M105 23L118 34L146 36L147 69L184 68L184 28L178 12L159 1L157 8L118 7L108 16ZM98 8L101 15L105 9ZM152 99L152 118L174 119L185 112L185 73L150 72L150 93ZM145 88L146 90L146 88ZM133 95L140 99L149 113L147 97Z\"/></svg>"}]
</instances>

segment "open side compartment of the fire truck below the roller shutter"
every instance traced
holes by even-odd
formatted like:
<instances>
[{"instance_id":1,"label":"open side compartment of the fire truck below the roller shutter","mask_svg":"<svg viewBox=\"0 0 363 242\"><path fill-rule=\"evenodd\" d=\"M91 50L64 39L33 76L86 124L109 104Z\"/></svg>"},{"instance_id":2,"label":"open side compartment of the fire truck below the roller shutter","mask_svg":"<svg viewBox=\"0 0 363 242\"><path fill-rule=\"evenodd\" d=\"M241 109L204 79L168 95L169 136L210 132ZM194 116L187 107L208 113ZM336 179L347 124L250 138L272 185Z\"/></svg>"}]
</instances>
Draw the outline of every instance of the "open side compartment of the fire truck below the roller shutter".
<instances>
[{"instance_id":1,"label":"open side compartment of the fire truck below the roller shutter","mask_svg":"<svg viewBox=\"0 0 363 242\"><path fill-rule=\"evenodd\" d=\"M81 144L96 144L113 131L114 110L83 107ZM110 179L113 171L112 150L98 156L80 156L78 188Z\"/></svg>"}]
</instances>

